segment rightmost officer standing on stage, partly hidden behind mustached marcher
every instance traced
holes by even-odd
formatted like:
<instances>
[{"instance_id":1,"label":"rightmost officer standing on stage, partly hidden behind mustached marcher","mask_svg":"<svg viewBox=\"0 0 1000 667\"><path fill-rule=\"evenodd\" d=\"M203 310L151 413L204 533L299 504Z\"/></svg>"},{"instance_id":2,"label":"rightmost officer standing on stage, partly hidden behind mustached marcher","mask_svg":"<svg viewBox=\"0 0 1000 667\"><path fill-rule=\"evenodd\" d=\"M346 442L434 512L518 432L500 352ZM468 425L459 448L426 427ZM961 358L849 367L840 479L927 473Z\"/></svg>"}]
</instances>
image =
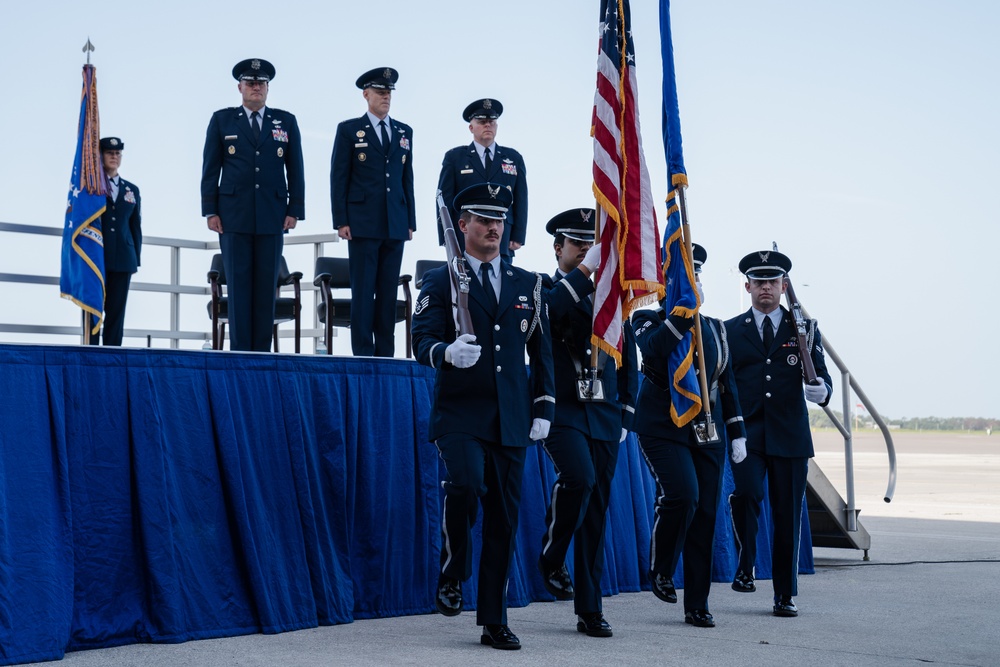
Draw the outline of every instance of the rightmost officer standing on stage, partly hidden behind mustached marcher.
<instances>
[{"instance_id":1,"label":"rightmost officer standing on stage, partly hidden behind mustached marcher","mask_svg":"<svg viewBox=\"0 0 1000 667\"><path fill-rule=\"evenodd\" d=\"M507 212L504 235L500 244L500 254L511 261L514 251L524 245L528 229L528 182L524 170L524 158L513 148L496 143L497 119L503 113L499 100L483 98L470 103L462 112L462 118L469 124L472 143L452 148L444 155L438 190L445 202L451 202L455 194L476 183L502 185L510 191L512 203ZM450 204L449 204L450 205ZM452 224L459 245L463 243L458 233L458 211L452 208ZM444 245L444 232L438 225L438 244Z\"/></svg>"}]
</instances>

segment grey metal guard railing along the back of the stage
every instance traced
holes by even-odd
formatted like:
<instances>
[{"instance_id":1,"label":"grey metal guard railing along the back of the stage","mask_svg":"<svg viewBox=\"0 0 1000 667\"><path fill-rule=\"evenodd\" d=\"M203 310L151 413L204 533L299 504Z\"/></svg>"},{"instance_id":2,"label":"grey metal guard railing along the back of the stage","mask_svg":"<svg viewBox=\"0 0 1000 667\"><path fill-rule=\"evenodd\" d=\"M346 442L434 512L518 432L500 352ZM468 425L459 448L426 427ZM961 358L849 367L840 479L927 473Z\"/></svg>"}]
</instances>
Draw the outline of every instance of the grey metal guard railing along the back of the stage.
<instances>
[{"instance_id":1,"label":"grey metal guard railing along the back of the stage","mask_svg":"<svg viewBox=\"0 0 1000 667\"><path fill-rule=\"evenodd\" d=\"M33 236L58 236L62 237L61 227L45 227L41 225L24 225L13 222L0 222L0 232L14 234L28 234ZM323 254L323 244L337 243L340 238L335 233L330 234L306 234L288 236L285 238L286 246L292 245L312 245L313 264L315 260ZM170 282L133 282L129 286L130 291L137 292L158 292L170 294L170 329L126 329L125 335L129 338L157 338L170 341L171 348L177 348L181 340L202 340L209 341L212 338L210 332L205 331L182 331L180 326L180 297L182 294L210 296L211 289L204 285L182 285L180 283L181 273L181 250L209 251L218 250L218 241L192 241L190 239L177 239L161 236L144 236L143 245L162 246L170 248ZM18 283L24 285L59 285L58 276L46 276L21 273L0 273L0 283ZM316 287L306 281L302 285L303 291L316 291ZM314 309L315 310L315 309ZM0 332L16 334L54 334L54 335L80 335L81 324L75 326L51 326L38 324L10 324L0 323ZM323 335L323 330L319 328L317 315L313 313L313 327L303 329L302 335L319 339ZM280 332L282 338L294 335L292 332ZM81 335L82 339L82 335ZM329 345L329 341L327 341Z\"/></svg>"}]
</instances>

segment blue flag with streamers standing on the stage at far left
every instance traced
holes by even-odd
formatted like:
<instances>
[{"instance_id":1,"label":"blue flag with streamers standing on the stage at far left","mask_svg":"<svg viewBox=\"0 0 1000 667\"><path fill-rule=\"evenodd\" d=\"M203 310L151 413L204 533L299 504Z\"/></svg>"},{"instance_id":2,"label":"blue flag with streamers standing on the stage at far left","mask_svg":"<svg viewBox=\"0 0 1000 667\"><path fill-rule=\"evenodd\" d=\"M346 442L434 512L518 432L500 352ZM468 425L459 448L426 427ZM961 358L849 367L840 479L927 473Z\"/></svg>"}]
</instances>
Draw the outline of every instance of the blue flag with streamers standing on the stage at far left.
<instances>
[{"instance_id":1,"label":"blue flag with streamers standing on the stage at far left","mask_svg":"<svg viewBox=\"0 0 1000 667\"><path fill-rule=\"evenodd\" d=\"M89 314L91 334L100 331L104 312L101 215L107 199L100 136L96 68L88 64L83 66L80 125L66 201L59 294Z\"/></svg>"}]
</instances>

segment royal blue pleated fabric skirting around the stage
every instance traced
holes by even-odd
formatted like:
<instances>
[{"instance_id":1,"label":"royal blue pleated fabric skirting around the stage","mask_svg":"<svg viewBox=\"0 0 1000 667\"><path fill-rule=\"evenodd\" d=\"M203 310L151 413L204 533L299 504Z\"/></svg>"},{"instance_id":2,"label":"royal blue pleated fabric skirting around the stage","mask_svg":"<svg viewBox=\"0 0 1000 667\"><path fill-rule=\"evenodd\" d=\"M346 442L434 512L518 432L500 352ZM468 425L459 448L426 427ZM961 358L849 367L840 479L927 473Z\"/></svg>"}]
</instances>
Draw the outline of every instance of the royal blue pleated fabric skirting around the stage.
<instances>
[{"instance_id":1,"label":"royal blue pleated fabric skirting around the stage","mask_svg":"<svg viewBox=\"0 0 1000 667\"><path fill-rule=\"evenodd\" d=\"M0 664L433 611L441 471L426 442L430 369L4 345L0 373ZM535 562L554 479L533 448L513 606L551 599ZM724 496L728 468L725 485ZM653 499L630 435L606 595L648 589ZM715 581L735 569L728 514L722 502ZM770 532L762 526L760 578L770 577ZM465 585L468 608L475 586Z\"/></svg>"}]
</instances>

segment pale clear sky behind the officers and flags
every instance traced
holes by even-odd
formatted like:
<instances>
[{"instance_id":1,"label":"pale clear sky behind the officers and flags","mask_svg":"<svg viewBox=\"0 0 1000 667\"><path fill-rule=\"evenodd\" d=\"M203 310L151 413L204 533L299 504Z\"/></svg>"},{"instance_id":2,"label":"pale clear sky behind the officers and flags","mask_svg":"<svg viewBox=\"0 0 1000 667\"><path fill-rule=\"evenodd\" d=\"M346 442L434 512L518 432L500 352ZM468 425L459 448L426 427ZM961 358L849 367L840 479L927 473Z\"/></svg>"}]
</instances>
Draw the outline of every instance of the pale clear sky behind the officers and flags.
<instances>
[{"instance_id":1,"label":"pale clear sky behind the officers and flags","mask_svg":"<svg viewBox=\"0 0 1000 667\"><path fill-rule=\"evenodd\" d=\"M632 15L644 147L662 202L657 4L633 2ZM205 129L213 111L239 103L230 70L248 57L275 65L268 104L295 113L303 132L306 220L295 233L331 231L334 130L365 110L357 76L391 66L400 80L390 115L414 128L418 230L404 271L444 256L433 217L441 157L471 141L465 105L490 96L504 104L497 141L527 166L529 230L516 263L551 272L545 222L593 205L598 8L17 3L0 24L0 220L62 225L89 36L102 134L125 141L121 173L141 188L145 234L213 240L200 217ZM735 266L777 241L799 298L883 414L1000 416L1000 4L679 0L673 29L690 220L709 252L705 312L748 308ZM663 213L661 204L661 232ZM3 237L0 272L58 274L56 239ZM148 249L134 280L164 280L165 253ZM297 263L311 281L311 259ZM204 284L208 257L194 264L184 281ZM17 290L3 297L6 321L79 321L54 288ZM207 331L204 299L186 299L182 328ZM133 293L126 327L168 324L163 297Z\"/></svg>"}]
</instances>

